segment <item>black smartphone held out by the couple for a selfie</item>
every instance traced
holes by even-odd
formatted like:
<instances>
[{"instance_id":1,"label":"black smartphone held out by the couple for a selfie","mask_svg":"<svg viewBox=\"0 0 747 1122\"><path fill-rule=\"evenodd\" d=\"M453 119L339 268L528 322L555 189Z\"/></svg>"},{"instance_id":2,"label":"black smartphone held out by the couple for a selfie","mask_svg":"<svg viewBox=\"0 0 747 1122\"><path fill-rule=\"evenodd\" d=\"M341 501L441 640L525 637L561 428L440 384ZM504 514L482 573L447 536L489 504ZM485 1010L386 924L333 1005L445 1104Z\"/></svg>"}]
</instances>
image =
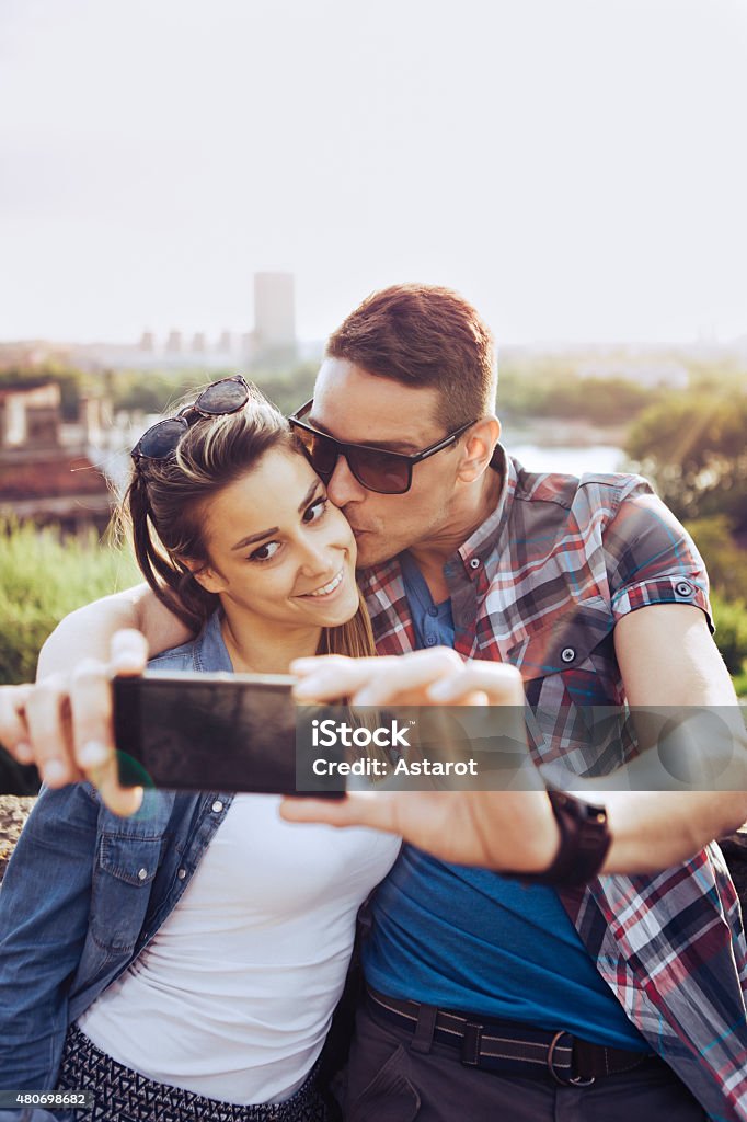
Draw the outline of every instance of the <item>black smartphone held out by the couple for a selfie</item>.
<instances>
[{"instance_id":1,"label":"black smartphone held out by the couple for a selfie","mask_svg":"<svg viewBox=\"0 0 747 1122\"><path fill-rule=\"evenodd\" d=\"M289 674L146 671L114 678L123 787L341 798L296 744ZM303 739L303 738L302 738Z\"/></svg>"}]
</instances>

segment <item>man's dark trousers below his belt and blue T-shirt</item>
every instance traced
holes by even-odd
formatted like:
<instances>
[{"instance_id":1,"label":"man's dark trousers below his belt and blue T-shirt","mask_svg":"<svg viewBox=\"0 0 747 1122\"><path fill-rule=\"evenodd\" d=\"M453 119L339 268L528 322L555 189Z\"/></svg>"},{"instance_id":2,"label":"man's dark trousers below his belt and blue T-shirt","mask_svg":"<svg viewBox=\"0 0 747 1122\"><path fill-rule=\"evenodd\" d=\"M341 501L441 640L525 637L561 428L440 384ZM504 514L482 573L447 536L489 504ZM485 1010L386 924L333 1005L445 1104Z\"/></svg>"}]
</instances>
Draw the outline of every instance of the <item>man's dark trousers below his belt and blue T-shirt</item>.
<instances>
[{"instance_id":1,"label":"man's dark trousers below his belt and blue T-shirt","mask_svg":"<svg viewBox=\"0 0 747 1122\"><path fill-rule=\"evenodd\" d=\"M358 1011L348 1068L345 1122L707 1122L665 1064L645 1061L590 1087L467 1067L460 1054Z\"/></svg>"}]
</instances>

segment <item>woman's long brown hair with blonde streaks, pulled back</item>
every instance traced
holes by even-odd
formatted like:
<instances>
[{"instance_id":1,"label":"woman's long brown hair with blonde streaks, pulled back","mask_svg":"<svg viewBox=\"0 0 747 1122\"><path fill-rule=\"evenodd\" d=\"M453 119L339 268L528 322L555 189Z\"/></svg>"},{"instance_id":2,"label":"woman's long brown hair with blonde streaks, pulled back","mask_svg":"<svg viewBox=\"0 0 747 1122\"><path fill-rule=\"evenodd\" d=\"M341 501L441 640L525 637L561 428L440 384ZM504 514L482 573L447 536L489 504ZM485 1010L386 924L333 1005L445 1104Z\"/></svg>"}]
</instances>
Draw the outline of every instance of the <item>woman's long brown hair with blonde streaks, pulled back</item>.
<instances>
[{"instance_id":1,"label":"woman's long brown hair with blonde streaks, pulled back","mask_svg":"<svg viewBox=\"0 0 747 1122\"><path fill-rule=\"evenodd\" d=\"M219 606L185 559L209 564L204 536L205 503L255 467L270 449L305 456L283 414L250 387L238 413L200 417L166 459L133 463L120 505L120 524L129 528L142 576L169 611L197 633ZM320 654L361 657L375 654L371 623L362 598L345 624L324 627Z\"/></svg>"}]
</instances>

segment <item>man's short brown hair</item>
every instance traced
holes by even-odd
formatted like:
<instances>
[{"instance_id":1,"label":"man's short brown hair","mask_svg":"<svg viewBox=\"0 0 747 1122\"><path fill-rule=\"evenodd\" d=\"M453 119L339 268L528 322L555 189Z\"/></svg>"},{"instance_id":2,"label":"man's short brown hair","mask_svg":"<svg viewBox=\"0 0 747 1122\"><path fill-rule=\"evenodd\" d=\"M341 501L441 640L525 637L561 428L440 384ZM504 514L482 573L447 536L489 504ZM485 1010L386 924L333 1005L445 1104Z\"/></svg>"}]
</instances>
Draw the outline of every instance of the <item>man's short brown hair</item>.
<instances>
[{"instance_id":1,"label":"man's short brown hair","mask_svg":"<svg viewBox=\"0 0 747 1122\"><path fill-rule=\"evenodd\" d=\"M326 356L405 386L433 386L445 432L495 408L492 333L450 288L398 284L374 293L330 335Z\"/></svg>"}]
</instances>

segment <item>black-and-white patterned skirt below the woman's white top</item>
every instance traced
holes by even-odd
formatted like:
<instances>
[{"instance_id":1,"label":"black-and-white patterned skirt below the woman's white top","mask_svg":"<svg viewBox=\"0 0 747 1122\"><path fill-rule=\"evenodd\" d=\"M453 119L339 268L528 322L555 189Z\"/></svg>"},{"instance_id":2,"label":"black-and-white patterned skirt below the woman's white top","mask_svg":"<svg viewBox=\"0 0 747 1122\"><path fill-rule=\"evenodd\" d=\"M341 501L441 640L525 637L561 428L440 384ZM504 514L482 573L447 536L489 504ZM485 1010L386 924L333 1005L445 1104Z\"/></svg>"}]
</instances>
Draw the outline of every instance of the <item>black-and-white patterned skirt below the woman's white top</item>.
<instances>
[{"instance_id":1,"label":"black-and-white patterned skirt below the woman's white top","mask_svg":"<svg viewBox=\"0 0 747 1122\"><path fill-rule=\"evenodd\" d=\"M285 1102L240 1106L154 1083L107 1056L71 1024L57 1089L93 1094L93 1110L79 1114L84 1122L330 1122L317 1067Z\"/></svg>"}]
</instances>

